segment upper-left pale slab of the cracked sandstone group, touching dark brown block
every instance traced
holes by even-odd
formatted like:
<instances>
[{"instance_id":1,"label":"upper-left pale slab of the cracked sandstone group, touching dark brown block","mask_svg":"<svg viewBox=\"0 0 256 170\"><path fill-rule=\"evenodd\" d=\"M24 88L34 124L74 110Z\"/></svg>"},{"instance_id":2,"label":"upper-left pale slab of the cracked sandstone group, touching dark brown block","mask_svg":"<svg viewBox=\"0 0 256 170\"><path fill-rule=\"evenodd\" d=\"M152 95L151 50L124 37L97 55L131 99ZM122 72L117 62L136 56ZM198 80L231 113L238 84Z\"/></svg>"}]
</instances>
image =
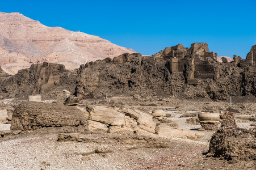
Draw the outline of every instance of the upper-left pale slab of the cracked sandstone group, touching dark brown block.
<instances>
[{"instance_id":1,"label":"upper-left pale slab of the cracked sandstone group, touching dark brown block","mask_svg":"<svg viewBox=\"0 0 256 170\"><path fill-rule=\"evenodd\" d=\"M115 109L108 107L87 107L89 111L89 120L108 124L112 126L124 125L124 113L118 112Z\"/></svg>"}]
</instances>

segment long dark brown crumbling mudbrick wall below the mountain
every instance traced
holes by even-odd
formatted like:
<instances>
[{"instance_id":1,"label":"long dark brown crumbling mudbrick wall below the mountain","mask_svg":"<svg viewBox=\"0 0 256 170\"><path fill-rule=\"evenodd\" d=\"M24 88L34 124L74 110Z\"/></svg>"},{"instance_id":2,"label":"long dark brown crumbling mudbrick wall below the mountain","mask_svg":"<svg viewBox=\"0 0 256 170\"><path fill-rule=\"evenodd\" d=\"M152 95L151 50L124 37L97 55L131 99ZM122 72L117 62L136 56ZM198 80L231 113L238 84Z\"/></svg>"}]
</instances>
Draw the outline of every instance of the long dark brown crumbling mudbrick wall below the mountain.
<instances>
[{"instance_id":1,"label":"long dark brown crumbling mudbrick wall below the mountain","mask_svg":"<svg viewBox=\"0 0 256 170\"><path fill-rule=\"evenodd\" d=\"M74 71L63 65L43 63L0 78L0 95L22 97L42 94L56 96L67 89L79 98L101 98L106 91L114 95L161 95L187 99L226 100L235 96L256 96L256 57L254 45L246 59L234 56L234 62L217 61L207 43L191 48L178 44L152 56L124 53L81 65Z\"/></svg>"}]
</instances>

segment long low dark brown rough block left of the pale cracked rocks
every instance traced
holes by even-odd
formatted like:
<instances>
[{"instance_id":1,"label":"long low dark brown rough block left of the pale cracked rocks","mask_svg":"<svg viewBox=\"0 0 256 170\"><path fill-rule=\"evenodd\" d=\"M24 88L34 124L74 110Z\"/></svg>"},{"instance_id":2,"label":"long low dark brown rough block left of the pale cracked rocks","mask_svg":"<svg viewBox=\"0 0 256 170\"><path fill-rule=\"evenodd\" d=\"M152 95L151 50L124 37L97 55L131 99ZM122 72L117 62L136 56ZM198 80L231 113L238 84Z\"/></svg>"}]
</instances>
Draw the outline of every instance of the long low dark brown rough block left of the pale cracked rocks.
<instances>
[{"instance_id":1,"label":"long low dark brown rough block left of the pale cracked rocks","mask_svg":"<svg viewBox=\"0 0 256 170\"><path fill-rule=\"evenodd\" d=\"M86 118L76 107L39 102L24 102L12 114L11 130L26 131L63 126L86 128Z\"/></svg>"}]
</instances>

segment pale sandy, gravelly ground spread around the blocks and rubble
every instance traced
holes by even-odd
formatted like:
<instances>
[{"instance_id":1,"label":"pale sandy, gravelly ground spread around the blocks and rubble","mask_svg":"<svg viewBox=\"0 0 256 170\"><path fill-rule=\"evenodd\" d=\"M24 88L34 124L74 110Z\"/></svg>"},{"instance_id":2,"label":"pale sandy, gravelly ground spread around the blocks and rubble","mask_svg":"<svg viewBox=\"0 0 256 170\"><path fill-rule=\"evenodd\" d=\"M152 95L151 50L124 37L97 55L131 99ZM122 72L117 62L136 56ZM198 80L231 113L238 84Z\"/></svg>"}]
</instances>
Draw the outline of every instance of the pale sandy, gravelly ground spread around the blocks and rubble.
<instances>
[{"instance_id":1,"label":"pale sandy, gravelly ground spread around the blocks and rubble","mask_svg":"<svg viewBox=\"0 0 256 170\"><path fill-rule=\"evenodd\" d=\"M1 107L14 111L21 100L1 100ZM44 100L44 103L55 103ZM66 133L68 128L42 128L2 135L1 169L255 169L255 160L226 160L208 154L213 130L200 130L200 112L235 113L239 128L249 130L255 123L256 103L250 97L229 101L181 100L173 98L113 96L100 100L80 100L78 106L129 107L152 114L162 109L175 128L198 131L200 138L150 137L114 133ZM190 120L188 120L190 119ZM188 121L187 121L188 120ZM10 122L0 130L10 130ZM72 130L71 130L72 131ZM62 134L62 137L61 135ZM69 139L63 137L69 135ZM82 136L82 137L79 137ZM65 139L64 139L65 138ZM80 141L79 138L88 139ZM255 148L254 148L255 149Z\"/></svg>"}]
</instances>

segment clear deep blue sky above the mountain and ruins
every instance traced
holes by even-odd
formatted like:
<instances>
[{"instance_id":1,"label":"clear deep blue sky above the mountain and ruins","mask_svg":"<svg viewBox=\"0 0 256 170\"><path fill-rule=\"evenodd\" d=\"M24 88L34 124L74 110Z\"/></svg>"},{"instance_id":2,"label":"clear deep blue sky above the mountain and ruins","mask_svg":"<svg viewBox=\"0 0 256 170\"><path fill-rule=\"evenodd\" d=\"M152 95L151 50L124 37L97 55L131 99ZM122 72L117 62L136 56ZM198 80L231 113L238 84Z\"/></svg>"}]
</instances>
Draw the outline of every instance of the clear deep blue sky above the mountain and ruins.
<instances>
[{"instance_id":1,"label":"clear deep blue sky above the mountain and ruins","mask_svg":"<svg viewBox=\"0 0 256 170\"><path fill-rule=\"evenodd\" d=\"M144 55L207 42L218 56L245 58L256 44L256 0L0 0L0 11L96 35Z\"/></svg>"}]
</instances>

